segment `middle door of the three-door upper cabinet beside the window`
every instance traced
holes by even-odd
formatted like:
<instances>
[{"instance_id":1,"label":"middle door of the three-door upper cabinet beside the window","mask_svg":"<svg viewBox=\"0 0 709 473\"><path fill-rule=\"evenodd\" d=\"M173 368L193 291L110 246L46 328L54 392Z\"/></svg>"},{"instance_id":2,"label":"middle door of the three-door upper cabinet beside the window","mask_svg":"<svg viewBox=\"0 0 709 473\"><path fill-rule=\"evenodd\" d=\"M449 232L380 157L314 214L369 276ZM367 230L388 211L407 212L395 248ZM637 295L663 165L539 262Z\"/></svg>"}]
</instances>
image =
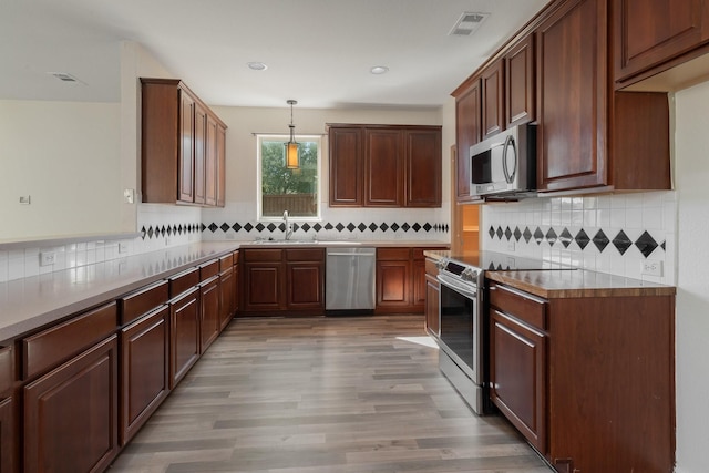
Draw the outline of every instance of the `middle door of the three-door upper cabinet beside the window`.
<instances>
[{"instance_id":1,"label":"middle door of the three-door upper cabinet beside the window","mask_svg":"<svg viewBox=\"0 0 709 473\"><path fill-rule=\"evenodd\" d=\"M364 205L403 206L403 143L400 130L364 130Z\"/></svg>"}]
</instances>

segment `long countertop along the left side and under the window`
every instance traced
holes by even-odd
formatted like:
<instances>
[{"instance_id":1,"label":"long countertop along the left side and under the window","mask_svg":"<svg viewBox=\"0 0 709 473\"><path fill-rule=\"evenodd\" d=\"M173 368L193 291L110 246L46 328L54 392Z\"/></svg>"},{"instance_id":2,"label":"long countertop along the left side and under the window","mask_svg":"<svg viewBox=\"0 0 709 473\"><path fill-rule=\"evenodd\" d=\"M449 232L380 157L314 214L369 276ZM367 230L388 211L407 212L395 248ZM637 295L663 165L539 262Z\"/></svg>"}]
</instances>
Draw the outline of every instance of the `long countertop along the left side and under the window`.
<instances>
[{"instance_id":1,"label":"long countertop along the left side and under the window","mask_svg":"<svg viewBox=\"0 0 709 473\"><path fill-rule=\"evenodd\" d=\"M0 341L119 298L151 282L198 266L238 248L342 246L448 247L441 241L320 240L282 245L253 241L202 241L93 265L0 282Z\"/></svg>"}]
</instances>

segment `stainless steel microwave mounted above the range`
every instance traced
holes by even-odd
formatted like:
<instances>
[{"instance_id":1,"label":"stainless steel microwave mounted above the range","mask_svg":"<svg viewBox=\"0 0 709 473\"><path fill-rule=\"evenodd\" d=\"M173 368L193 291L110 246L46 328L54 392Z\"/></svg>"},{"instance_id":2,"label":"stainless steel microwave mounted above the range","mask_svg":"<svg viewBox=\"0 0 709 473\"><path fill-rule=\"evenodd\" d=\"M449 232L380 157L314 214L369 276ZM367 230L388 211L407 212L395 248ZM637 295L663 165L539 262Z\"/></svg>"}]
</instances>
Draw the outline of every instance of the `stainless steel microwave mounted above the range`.
<instances>
[{"instance_id":1,"label":"stainless steel microwave mounted above the range","mask_svg":"<svg viewBox=\"0 0 709 473\"><path fill-rule=\"evenodd\" d=\"M536 125L513 126L470 147L470 194L520 197L536 189Z\"/></svg>"}]
</instances>

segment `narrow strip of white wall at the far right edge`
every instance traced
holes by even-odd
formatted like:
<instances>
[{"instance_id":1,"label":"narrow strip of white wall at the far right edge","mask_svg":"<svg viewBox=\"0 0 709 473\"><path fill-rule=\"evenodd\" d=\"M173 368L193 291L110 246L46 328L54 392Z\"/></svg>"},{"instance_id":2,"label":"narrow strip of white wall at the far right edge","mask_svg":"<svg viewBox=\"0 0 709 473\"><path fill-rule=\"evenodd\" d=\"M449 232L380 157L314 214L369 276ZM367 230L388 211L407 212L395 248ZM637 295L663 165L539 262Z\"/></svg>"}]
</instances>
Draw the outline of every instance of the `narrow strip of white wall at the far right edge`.
<instances>
[{"instance_id":1,"label":"narrow strip of white wall at the far right edge","mask_svg":"<svg viewBox=\"0 0 709 473\"><path fill-rule=\"evenodd\" d=\"M676 94L677 472L709 472L709 82Z\"/></svg>"}]
</instances>

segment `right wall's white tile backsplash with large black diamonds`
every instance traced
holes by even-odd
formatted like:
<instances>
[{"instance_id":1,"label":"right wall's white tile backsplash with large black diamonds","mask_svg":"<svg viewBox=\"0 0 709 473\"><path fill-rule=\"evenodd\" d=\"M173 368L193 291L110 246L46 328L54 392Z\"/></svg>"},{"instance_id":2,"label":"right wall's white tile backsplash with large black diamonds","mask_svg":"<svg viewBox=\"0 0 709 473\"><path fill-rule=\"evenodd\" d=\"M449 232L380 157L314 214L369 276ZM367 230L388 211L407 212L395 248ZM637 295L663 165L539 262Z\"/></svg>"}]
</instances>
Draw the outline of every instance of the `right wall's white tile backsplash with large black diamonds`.
<instances>
[{"instance_id":1,"label":"right wall's white tile backsplash with large black diamonds","mask_svg":"<svg viewBox=\"0 0 709 473\"><path fill-rule=\"evenodd\" d=\"M676 228L667 191L486 204L480 232L484 249L675 285ZM644 263L662 275L644 274Z\"/></svg>"}]
</instances>

